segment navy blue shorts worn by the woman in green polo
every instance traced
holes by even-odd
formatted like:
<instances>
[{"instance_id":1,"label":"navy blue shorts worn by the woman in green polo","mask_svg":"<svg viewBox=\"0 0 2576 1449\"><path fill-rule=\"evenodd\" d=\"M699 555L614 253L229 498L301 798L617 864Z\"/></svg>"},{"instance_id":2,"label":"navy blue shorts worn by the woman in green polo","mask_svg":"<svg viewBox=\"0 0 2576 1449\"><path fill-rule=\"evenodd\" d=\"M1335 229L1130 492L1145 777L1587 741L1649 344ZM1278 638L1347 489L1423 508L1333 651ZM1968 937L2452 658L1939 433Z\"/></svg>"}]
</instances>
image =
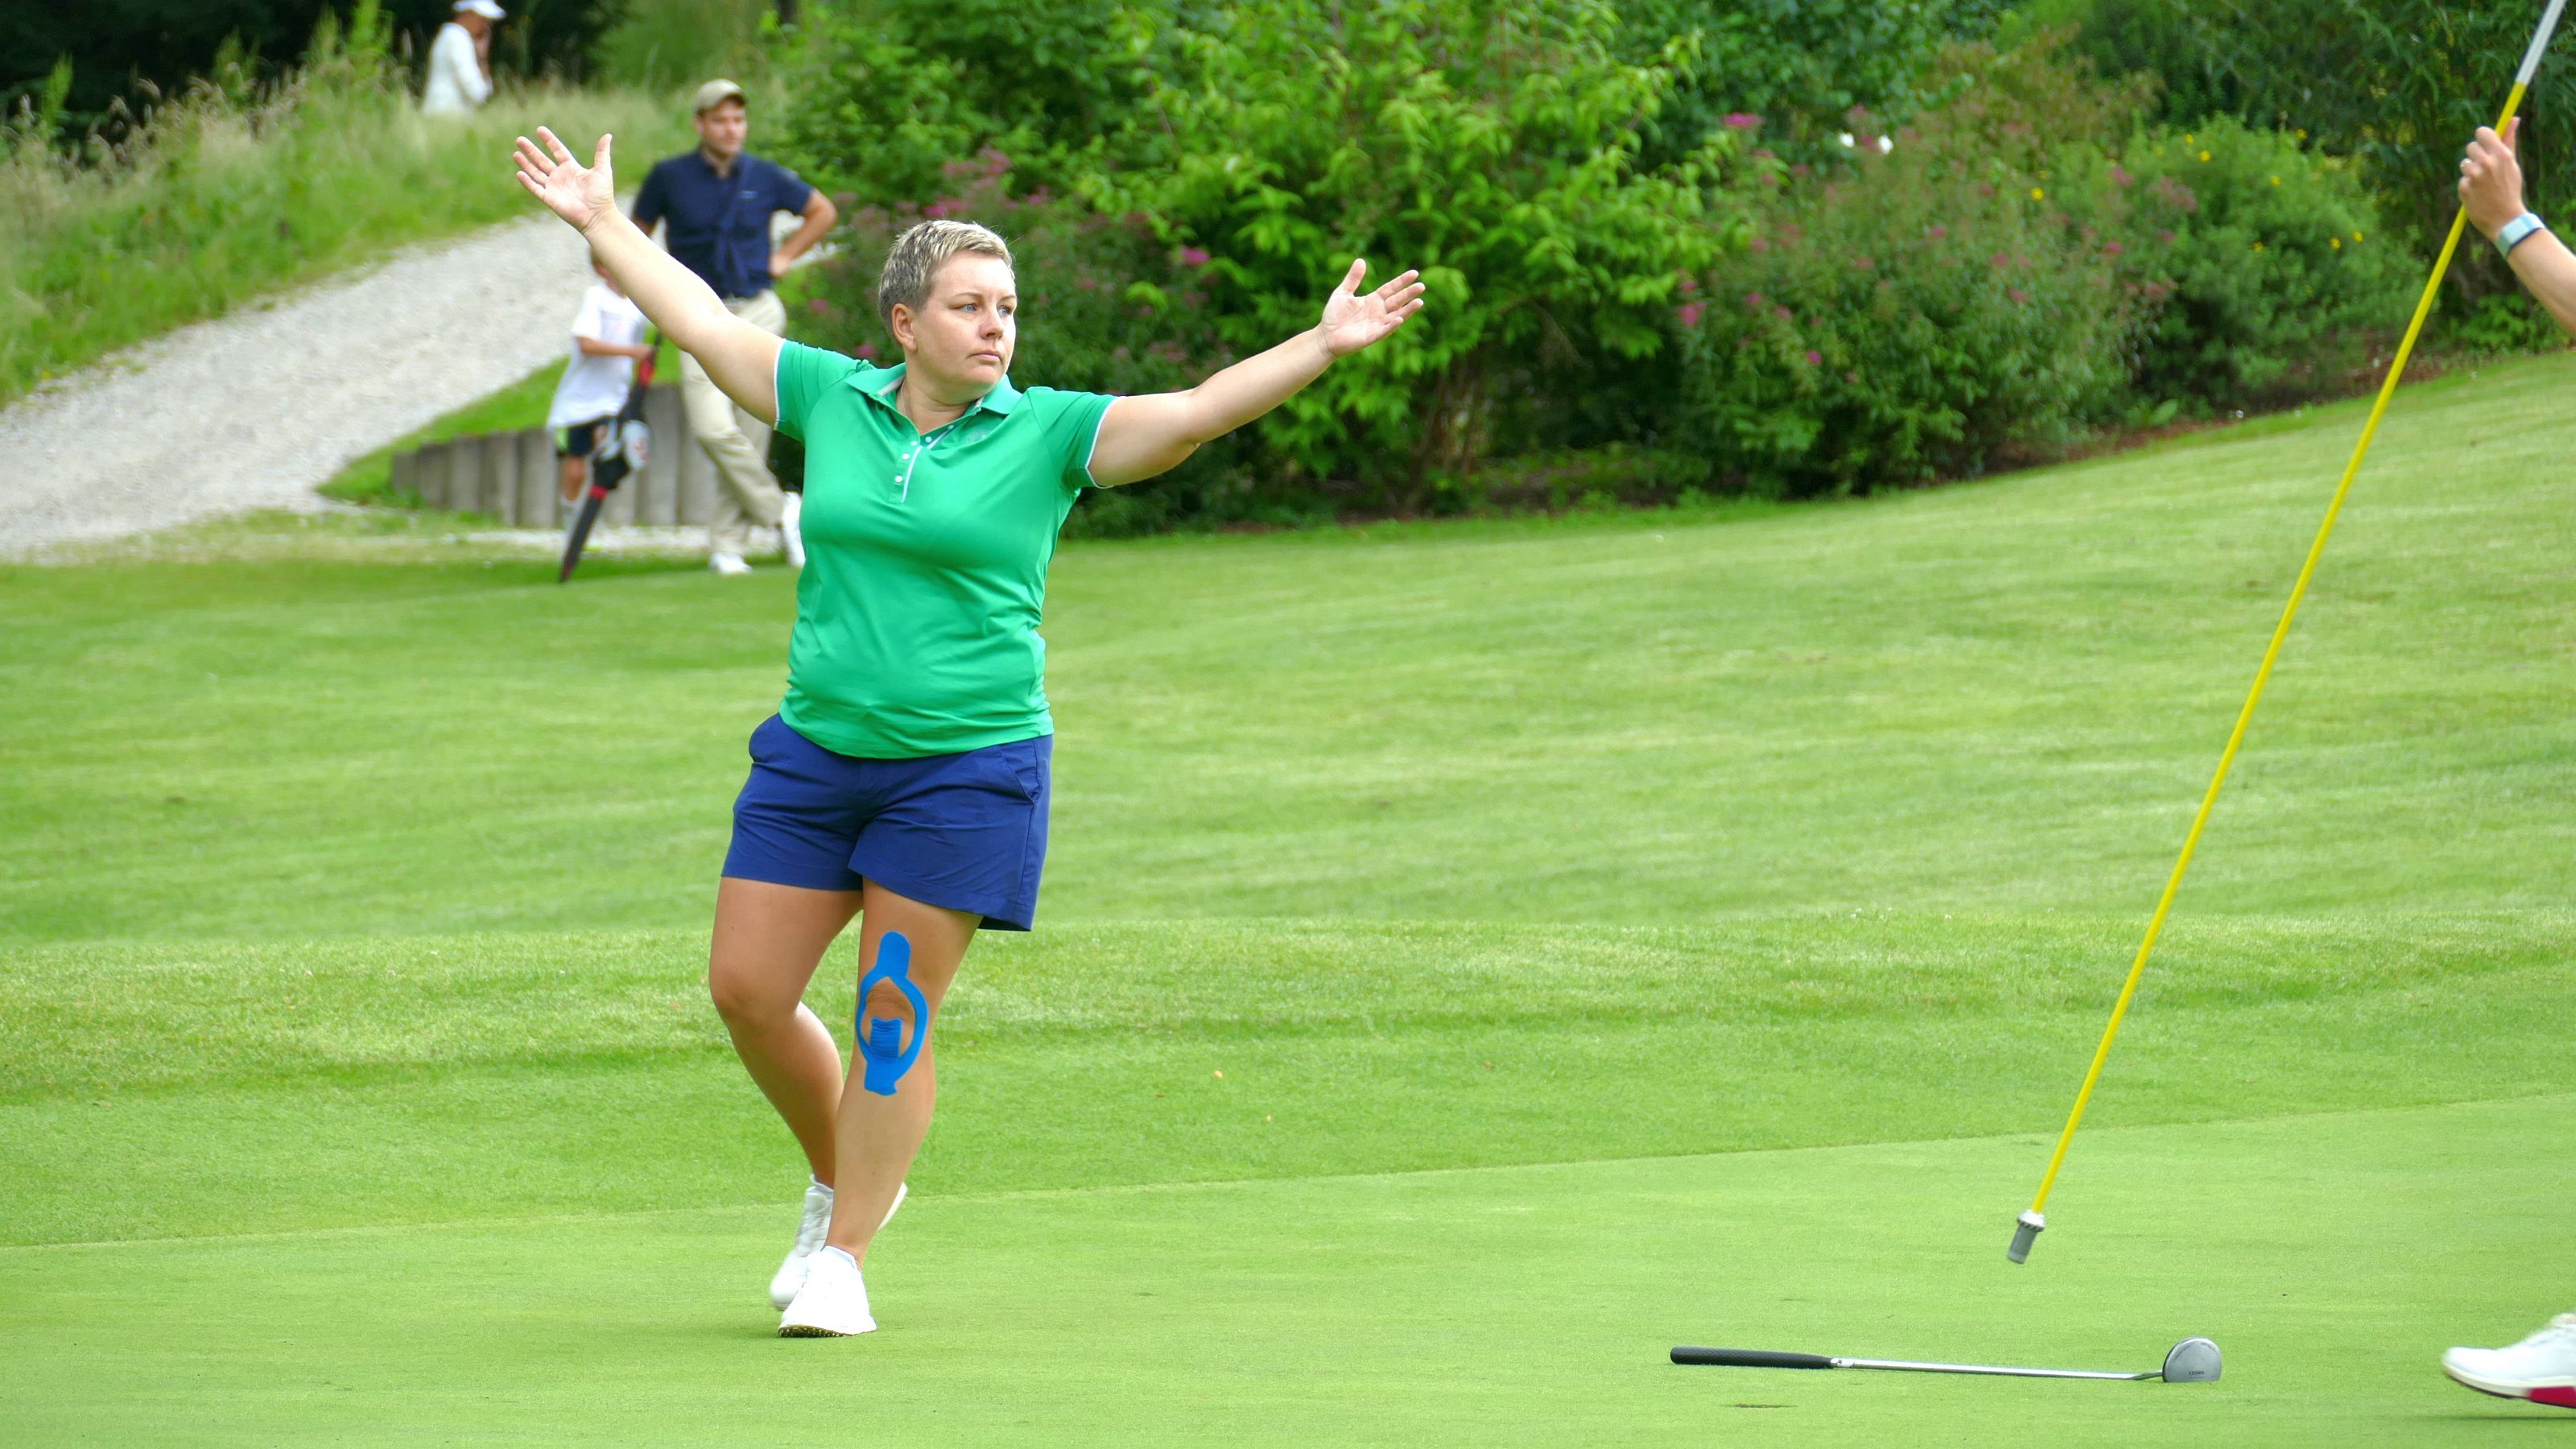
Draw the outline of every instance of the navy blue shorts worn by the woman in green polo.
<instances>
[{"instance_id":1,"label":"navy blue shorts worn by the woman in green polo","mask_svg":"<svg viewBox=\"0 0 2576 1449\"><path fill-rule=\"evenodd\" d=\"M806 890L876 882L992 931L1028 931L1046 866L1054 735L958 755L835 755L770 714L734 799L724 874Z\"/></svg>"}]
</instances>

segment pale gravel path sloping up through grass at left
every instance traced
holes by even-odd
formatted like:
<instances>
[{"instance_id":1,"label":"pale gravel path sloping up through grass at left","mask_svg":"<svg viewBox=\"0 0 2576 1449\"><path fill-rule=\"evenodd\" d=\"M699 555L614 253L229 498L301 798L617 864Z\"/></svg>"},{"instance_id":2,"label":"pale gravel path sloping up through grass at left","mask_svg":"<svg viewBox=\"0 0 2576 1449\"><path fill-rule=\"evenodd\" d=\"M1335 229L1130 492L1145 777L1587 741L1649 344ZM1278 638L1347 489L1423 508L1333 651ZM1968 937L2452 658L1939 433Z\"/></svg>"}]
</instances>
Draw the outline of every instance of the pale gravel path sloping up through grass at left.
<instances>
[{"instance_id":1,"label":"pale gravel path sloping up through grass at left","mask_svg":"<svg viewBox=\"0 0 2576 1449\"><path fill-rule=\"evenodd\" d=\"M582 237L528 217L155 338L0 410L0 557L322 508L350 459L564 353Z\"/></svg>"}]
</instances>

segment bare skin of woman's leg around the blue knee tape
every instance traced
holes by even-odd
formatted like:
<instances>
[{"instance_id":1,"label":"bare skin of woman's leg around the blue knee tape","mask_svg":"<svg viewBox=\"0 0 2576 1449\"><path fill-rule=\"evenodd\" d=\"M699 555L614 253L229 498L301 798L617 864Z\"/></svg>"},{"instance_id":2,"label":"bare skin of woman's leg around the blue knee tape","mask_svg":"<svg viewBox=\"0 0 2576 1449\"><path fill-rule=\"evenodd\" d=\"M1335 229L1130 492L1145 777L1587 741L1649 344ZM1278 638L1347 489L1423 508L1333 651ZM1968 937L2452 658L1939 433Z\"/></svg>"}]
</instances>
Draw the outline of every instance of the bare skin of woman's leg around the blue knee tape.
<instances>
[{"instance_id":1,"label":"bare skin of woman's leg around the blue knee tape","mask_svg":"<svg viewBox=\"0 0 2576 1449\"><path fill-rule=\"evenodd\" d=\"M938 1031L940 1000L948 995L948 982L958 977L966 944L974 941L984 918L904 900L876 882L868 882L866 897L868 908L858 926L858 975L866 977L876 967L876 946L886 931L902 931L912 944L912 985L922 987L922 998L930 1003L930 1029ZM860 1011L904 1018L907 1039L917 1029L909 1024L912 1006L884 982L868 993ZM922 1055L912 1070L894 1083L894 1096L868 1091L860 1078L863 1073L853 1075L840 1091L840 1163L845 1171L840 1191L832 1196L832 1232L824 1243L866 1266L868 1243L886 1222L886 1209L894 1207L894 1189L904 1186L904 1173L912 1171L912 1158L930 1132L930 1106L938 1101L938 1062L930 1036L922 1036Z\"/></svg>"}]
</instances>

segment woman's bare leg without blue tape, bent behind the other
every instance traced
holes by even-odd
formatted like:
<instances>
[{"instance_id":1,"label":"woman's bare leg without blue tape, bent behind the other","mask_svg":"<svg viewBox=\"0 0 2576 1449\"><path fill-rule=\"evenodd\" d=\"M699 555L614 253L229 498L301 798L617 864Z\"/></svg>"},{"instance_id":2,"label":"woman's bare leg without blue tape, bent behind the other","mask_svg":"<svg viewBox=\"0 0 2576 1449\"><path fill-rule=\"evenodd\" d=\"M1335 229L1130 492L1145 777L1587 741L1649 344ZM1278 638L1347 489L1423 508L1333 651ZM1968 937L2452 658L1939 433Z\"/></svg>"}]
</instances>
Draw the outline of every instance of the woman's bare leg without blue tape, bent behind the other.
<instances>
[{"instance_id":1,"label":"woman's bare leg without blue tape, bent behind the other","mask_svg":"<svg viewBox=\"0 0 2576 1449\"><path fill-rule=\"evenodd\" d=\"M716 944L706 967L706 987L724 1029L734 1034L734 1055L786 1119L814 1181L824 1186L832 1186L840 1047L822 1018L806 1011L804 987L832 938L858 913L858 900L855 890L724 877L716 882ZM948 969L956 972L956 957ZM894 1199L891 1186L886 1199Z\"/></svg>"}]
</instances>

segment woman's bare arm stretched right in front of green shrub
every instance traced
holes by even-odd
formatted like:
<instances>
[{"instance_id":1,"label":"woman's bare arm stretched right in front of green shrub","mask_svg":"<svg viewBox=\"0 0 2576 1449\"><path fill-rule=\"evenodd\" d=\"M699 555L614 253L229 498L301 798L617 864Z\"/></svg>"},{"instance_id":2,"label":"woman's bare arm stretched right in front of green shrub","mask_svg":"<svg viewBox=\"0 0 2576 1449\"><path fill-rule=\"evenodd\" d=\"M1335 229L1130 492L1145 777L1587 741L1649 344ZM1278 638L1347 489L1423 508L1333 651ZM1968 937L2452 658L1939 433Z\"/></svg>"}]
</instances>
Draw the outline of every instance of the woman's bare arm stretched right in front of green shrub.
<instances>
[{"instance_id":1,"label":"woman's bare arm stretched right in front of green shrub","mask_svg":"<svg viewBox=\"0 0 2576 1449\"><path fill-rule=\"evenodd\" d=\"M1188 392L1149 392L1110 402L1108 415L1100 418L1100 443L1092 449L1092 482L1118 487L1180 467L1200 443L1213 443L1270 413L1296 389L1324 376L1332 358L1376 343L1422 309L1422 273L1406 271L1360 297L1365 273L1365 260L1350 263L1314 330L1298 333L1257 358L1244 358Z\"/></svg>"}]
</instances>

